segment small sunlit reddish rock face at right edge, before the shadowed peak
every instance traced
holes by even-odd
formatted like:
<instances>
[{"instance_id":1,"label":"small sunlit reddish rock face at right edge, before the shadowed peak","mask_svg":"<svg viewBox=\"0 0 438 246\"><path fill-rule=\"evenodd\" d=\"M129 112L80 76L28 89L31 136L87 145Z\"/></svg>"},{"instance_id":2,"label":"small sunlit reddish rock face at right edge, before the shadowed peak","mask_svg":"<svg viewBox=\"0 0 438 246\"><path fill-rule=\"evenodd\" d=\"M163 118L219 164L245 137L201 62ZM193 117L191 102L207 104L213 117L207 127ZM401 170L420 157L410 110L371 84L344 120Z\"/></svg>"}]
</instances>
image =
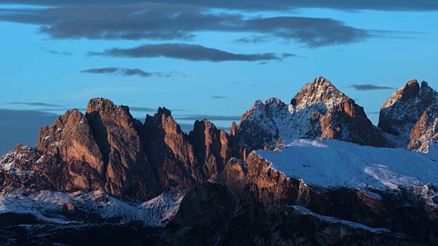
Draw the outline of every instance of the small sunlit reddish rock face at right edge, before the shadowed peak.
<instances>
[{"instance_id":1,"label":"small sunlit reddish rock face at right edge, before the shadowed peak","mask_svg":"<svg viewBox=\"0 0 438 246\"><path fill-rule=\"evenodd\" d=\"M427 153L437 148L438 141L438 105L426 109L411 131L408 150Z\"/></svg>"}]
</instances>

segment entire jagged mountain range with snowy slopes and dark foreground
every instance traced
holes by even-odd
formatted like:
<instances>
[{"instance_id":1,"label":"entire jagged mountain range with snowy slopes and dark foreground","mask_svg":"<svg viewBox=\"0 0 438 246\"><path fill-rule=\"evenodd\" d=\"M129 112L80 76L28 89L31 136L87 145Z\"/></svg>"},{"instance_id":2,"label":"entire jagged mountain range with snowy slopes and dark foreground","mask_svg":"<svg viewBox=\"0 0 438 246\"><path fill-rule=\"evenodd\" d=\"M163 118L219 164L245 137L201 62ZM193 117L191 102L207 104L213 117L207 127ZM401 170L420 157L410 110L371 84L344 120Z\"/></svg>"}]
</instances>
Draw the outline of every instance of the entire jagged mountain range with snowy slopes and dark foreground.
<instances>
[{"instance_id":1,"label":"entire jagged mountain range with snowy slopes and dark foreground","mask_svg":"<svg viewBox=\"0 0 438 246\"><path fill-rule=\"evenodd\" d=\"M0 242L438 245L437 121L416 80L378 126L322 77L229 133L94 98L1 158Z\"/></svg>"}]
</instances>

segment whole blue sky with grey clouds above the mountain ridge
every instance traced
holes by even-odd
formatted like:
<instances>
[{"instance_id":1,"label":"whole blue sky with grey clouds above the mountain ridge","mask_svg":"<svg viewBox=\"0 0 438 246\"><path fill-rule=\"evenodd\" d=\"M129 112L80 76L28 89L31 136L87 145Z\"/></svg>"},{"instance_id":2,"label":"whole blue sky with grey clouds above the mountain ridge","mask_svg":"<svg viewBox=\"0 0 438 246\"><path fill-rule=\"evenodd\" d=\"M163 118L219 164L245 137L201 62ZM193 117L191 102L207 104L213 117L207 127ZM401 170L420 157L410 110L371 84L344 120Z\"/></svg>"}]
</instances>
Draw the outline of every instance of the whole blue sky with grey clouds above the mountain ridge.
<instances>
[{"instance_id":1,"label":"whole blue sky with grey clouds above the mountain ridge","mask_svg":"<svg viewBox=\"0 0 438 246\"><path fill-rule=\"evenodd\" d=\"M4 120L5 112L60 114L83 109L94 97L147 108L132 112L138 118L161 106L175 118L190 118L177 120L183 124L213 115L212 122L227 128L255 100L289 102L320 76L357 100L376 124L375 112L395 89L363 91L351 85L398 88L418 79L438 87L438 3L83 0L56 6L44 0L26 5L31 2L0 0L0 108L10 109L1 111L3 128L14 125ZM28 122L36 129L42 123ZM6 140L1 147L10 148L12 140Z\"/></svg>"}]
</instances>

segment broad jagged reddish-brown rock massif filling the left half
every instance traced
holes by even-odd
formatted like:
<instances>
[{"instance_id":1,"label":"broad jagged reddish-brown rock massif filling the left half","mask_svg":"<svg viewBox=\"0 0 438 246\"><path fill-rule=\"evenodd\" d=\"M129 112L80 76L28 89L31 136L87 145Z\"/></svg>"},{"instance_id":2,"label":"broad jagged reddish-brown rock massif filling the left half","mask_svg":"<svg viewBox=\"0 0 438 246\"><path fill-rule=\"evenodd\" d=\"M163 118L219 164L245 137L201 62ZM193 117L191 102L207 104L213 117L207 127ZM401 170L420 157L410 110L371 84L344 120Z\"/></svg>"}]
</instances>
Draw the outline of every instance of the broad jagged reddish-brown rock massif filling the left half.
<instances>
[{"instance_id":1,"label":"broad jagged reddish-brown rock massif filling the left half","mask_svg":"<svg viewBox=\"0 0 438 246\"><path fill-rule=\"evenodd\" d=\"M18 145L3 156L0 186L103 189L145 201L215 178L230 158L229 135L207 120L196 122L189 137L166 108L142 124L129 107L95 98L86 115L73 109L41 128L36 148Z\"/></svg>"}]
</instances>

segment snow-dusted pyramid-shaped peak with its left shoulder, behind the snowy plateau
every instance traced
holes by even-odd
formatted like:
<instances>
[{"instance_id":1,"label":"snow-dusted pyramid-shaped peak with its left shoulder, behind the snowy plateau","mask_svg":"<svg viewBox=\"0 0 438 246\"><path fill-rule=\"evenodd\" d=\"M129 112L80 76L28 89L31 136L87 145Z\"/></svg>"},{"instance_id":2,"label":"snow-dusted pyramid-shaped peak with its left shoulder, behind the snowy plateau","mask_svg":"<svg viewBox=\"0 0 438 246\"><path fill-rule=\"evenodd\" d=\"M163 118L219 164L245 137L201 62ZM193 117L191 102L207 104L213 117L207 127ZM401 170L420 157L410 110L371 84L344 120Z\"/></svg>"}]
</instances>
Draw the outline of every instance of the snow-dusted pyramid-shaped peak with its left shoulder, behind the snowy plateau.
<instances>
[{"instance_id":1,"label":"snow-dusted pyramid-shaped peak with its left shoulder, behind the snowy plateau","mask_svg":"<svg viewBox=\"0 0 438 246\"><path fill-rule=\"evenodd\" d=\"M280 138L326 137L360 145L392 147L372 125L363 108L319 77L302 87L290 105L270 98L254 106L232 127L231 135L248 150L263 148ZM242 152L242 151L241 151Z\"/></svg>"}]
</instances>

